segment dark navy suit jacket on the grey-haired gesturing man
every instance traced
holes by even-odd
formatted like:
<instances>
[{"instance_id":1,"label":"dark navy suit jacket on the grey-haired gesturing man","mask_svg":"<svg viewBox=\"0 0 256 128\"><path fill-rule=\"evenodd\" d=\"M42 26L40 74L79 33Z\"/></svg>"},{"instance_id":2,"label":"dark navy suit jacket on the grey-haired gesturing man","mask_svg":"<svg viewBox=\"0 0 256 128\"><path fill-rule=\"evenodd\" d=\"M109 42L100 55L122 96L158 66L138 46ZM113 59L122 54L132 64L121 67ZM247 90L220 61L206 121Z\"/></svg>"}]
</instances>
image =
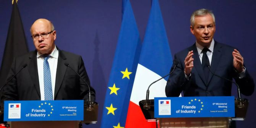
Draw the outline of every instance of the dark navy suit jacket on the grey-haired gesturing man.
<instances>
[{"instance_id":1,"label":"dark navy suit jacket on the grey-haired gesturing man","mask_svg":"<svg viewBox=\"0 0 256 128\"><path fill-rule=\"evenodd\" d=\"M238 73L233 66L232 52L235 48L220 44L217 41L214 43L214 51L212 55L211 71L216 75L232 80L233 78L240 87L242 94L249 96L254 91L254 82L248 73L245 71L245 77L238 78ZM184 60L189 51L193 50L193 64L189 80L185 78ZM183 91L184 96L231 96L232 83L212 75L210 72L209 78L204 79L204 72L199 59L196 44L187 49L175 54L174 61L178 62L177 68L170 75L165 87L167 97L179 96Z\"/></svg>"}]
</instances>

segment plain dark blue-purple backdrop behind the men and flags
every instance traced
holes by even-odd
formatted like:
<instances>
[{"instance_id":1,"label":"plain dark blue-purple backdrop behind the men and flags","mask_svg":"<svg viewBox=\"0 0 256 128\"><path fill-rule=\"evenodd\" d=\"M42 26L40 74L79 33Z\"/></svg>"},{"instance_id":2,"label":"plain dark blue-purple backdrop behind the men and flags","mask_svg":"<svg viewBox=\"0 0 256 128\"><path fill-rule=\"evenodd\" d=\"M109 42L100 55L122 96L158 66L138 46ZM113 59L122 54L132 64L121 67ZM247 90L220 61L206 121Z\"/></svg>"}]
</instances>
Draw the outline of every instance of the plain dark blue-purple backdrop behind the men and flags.
<instances>
[{"instance_id":1,"label":"plain dark blue-purple backdrop behind the men and flags","mask_svg":"<svg viewBox=\"0 0 256 128\"><path fill-rule=\"evenodd\" d=\"M151 0L130 0L143 41L151 8ZM246 68L256 81L256 1L255 0L159 0L172 55L192 45L190 15L194 10L212 10L216 19L214 39L237 47L245 59ZM38 18L47 18L57 30L56 44L83 57L92 86L99 102L99 122L86 128L99 128L110 70L122 23L122 0L19 0L29 50L34 50L30 26ZM0 0L0 62L2 62L11 0ZM169 70L169 69L168 69ZM236 87L233 87L236 96ZM245 96L243 96L245 97ZM250 100L247 118L237 126L254 126L256 122L256 93Z\"/></svg>"}]
</instances>

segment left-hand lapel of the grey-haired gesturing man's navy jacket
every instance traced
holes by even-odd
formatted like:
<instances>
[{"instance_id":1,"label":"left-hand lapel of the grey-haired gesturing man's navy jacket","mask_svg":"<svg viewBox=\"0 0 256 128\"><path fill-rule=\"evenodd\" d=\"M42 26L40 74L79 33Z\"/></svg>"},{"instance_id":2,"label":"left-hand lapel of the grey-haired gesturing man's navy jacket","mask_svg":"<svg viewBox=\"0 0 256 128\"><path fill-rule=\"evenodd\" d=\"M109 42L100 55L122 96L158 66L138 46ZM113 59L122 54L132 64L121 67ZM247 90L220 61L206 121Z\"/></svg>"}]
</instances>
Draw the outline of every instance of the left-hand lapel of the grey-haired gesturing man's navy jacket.
<instances>
[{"instance_id":1,"label":"left-hand lapel of the grey-haired gesturing man's navy jacket","mask_svg":"<svg viewBox=\"0 0 256 128\"><path fill-rule=\"evenodd\" d=\"M204 85L206 86L207 83L206 83L206 80L204 78L204 71L203 71L203 68L202 68L202 64L201 64L201 61L200 61L200 58L199 58L199 55L198 55L198 50L196 49L196 44L194 44L192 46L192 50L193 50L193 58L194 58L194 68L196 68L196 71L198 72L198 75L200 76L201 80L203 81Z\"/></svg>"}]
</instances>

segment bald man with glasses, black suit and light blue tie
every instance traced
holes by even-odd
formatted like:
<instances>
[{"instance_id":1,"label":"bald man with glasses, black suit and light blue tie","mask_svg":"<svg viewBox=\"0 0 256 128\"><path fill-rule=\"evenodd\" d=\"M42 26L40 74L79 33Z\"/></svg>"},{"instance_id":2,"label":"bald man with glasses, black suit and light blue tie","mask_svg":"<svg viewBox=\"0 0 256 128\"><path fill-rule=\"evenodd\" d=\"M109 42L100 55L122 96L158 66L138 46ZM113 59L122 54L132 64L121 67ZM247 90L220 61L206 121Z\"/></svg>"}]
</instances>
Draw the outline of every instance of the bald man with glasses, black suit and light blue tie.
<instances>
[{"instance_id":1,"label":"bald man with glasses, black suit and light blue tie","mask_svg":"<svg viewBox=\"0 0 256 128\"><path fill-rule=\"evenodd\" d=\"M3 100L77 100L88 101L87 76L81 56L60 50L55 45L56 31L47 19L37 19L31 26L36 50L13 59ZM66 65L70 65L67 67ZM73 68L85 81L71 70ZM92 101L95 91L90 86Z\"/></svg>"}]
</instances>

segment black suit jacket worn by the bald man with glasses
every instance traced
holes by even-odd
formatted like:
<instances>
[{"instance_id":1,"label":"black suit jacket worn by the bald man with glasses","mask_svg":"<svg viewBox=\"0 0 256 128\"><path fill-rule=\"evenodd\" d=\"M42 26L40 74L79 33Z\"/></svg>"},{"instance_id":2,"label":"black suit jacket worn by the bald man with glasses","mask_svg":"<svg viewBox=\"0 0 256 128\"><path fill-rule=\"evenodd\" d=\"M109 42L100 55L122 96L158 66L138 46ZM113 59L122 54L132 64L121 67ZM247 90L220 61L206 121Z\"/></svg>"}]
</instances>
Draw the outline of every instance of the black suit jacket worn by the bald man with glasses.
<instances>
[{"instance_id":1,"label":"black suit jacket worn by the bald man with glasses","mask_svg":"<svg viewBox=\"0 0 256 128\"><path fill-rule=\"evenodd\" d=\"M73 70L64 65L64 63L68 63L90 85L83 59L70 52L59 49L58 51L54 100L88 100L89 90L86 84ZM13 59L7 79L15 75L24 64L27 66L5 86L2 100L41 100L36 55L37 51L35 50ZM92 101L95 101L95 91L92 87L90 89Z\"/></svg>"}]
</instances>

